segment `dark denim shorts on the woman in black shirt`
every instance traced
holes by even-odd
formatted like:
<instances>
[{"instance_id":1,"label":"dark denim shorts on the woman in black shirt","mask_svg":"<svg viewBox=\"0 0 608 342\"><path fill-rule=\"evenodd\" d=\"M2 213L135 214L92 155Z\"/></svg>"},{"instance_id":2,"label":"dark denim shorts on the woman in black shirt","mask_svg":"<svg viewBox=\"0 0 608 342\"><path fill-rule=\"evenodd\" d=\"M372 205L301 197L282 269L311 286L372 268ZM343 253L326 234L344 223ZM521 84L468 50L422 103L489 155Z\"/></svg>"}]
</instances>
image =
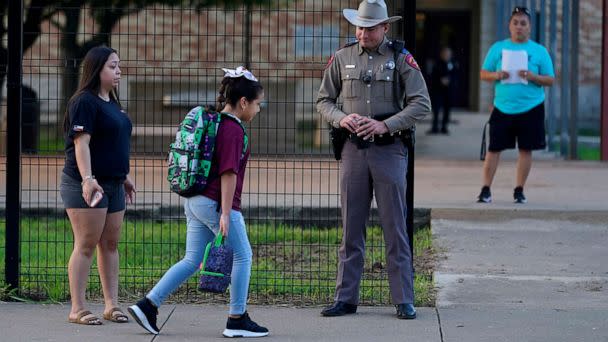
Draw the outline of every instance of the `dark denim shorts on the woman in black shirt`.
<instances>
[{"instance_id":1,"label":"dark denim shorts on the woman in black shirt","mask_svg":"<svg viewBox=\"0 0 608 342\"><path fill-rule=\"evenodd\" d=\"M103 198L95 208L108 208L108 213L125 210L127 207L125 198L125 187L123 179L97 180L103 188ZM90 208L82 197L82 185L78 179L61 173L61 184L59 185L61 199L66 209Z\"/></svg>"}]
</instances>

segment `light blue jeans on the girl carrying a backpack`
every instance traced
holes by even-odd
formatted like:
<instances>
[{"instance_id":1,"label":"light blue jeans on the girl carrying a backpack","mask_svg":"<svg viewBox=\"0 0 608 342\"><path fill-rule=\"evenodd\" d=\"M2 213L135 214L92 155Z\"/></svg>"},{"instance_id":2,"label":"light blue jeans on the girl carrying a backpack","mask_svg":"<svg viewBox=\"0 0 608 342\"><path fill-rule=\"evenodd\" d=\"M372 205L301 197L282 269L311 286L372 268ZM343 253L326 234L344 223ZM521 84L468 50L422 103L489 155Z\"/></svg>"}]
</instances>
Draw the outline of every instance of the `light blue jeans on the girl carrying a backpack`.
<instances>
[{"instance_id":1,"label":"light blue jeans on the girl carrying a backpack","mask_svg":"<svg viewBox=\"0 0 608 342\"><path fill-rule=\"evenodd\" d=\"M205 196L187 198L184 203L188 230L186 233L186 255L158 281L146 295L154 305L160 307L165 299L184 281L188 280L203 261L207 243L219 232L220 213L218 203ZM247 308L247 292L251 275L251 246L247 238L245 220L241 212L231 210L230 229L226 243L234 250L232 282L230 284L231 315L243 314Z\"/></svg>"}]
</instances>

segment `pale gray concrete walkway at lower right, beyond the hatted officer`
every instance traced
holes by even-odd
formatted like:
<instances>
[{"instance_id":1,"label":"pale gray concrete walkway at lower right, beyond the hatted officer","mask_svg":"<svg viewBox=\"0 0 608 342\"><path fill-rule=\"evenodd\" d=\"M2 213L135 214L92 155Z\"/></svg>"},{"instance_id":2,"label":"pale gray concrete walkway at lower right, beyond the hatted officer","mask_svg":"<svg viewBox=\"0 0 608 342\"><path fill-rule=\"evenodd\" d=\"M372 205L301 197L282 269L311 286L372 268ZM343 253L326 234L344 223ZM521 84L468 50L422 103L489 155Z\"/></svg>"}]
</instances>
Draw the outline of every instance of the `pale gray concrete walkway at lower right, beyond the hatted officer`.
<instances>
[{"instance_id":1,"label":"pale gray concrete walkway at lower right, beyond the hatted officer","mask_svg":"<svg viewBox=\"0 0 608 342\"><path fill-rule=\"evenodd\" d=\"M432 216L443 341L608 341L608 213Z\"/></svg>"}]
</instances>

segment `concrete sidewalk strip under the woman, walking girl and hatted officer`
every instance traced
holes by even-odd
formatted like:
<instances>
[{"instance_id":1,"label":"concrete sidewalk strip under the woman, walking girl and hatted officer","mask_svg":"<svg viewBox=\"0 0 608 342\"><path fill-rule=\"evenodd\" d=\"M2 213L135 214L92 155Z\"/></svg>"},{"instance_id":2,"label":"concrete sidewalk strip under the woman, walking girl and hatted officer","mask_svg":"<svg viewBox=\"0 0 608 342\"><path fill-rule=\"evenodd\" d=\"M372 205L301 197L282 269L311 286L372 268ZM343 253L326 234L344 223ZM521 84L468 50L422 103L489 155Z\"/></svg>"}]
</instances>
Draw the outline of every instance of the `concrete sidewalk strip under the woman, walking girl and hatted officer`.
<instances>
[{"instance_id":1,"label":"concrete sidewalk strip under the woman, walking girl and hatted officer","mask_svg":"<svg viewBox=\"0 0 608 342\"><path fill-rule=\"evenodd\" d=\"M165 305L159 327L175 307L170 319L153 335L137 323L104 322L101 326L67 323L69 306L0 303L1 341L214 341L225 340L226 308L201 305ZM103 307L92 305L101 313ZM321 308L252 306L254 320L271 330L273 341L441 341L434 308L420 308L418 319L394 318L388 307L361 307L356 315L324 318ZM264 339L264 340L266 340Z\"/></svg>"}]
</instances>

